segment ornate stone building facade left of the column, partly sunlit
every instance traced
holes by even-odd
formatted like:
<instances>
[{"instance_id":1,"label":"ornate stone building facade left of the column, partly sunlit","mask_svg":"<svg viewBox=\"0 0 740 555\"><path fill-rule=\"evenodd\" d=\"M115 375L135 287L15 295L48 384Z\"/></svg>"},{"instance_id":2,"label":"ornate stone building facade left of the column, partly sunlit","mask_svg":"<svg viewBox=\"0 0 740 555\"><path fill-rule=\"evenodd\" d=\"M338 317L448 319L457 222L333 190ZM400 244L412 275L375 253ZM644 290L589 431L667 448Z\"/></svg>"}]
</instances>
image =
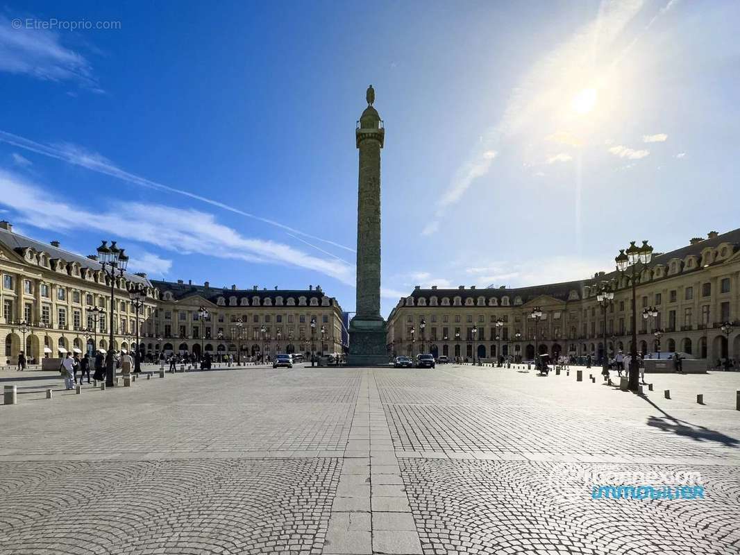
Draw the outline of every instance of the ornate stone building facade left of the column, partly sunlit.
<instances>
[{"instance_id":1,"label":"ornate stone building facade left of the column, partly sunlit","mask_svg":"<svg viewBox=\"0 0 740 555\"><path fill-rule=\"evenodd\" d=\"M57 241L41 243L0 222L0 334L4 364L60 357L67 351L108 349L110 277L94 255L82 257ZM143 306L130 292L140 288ZM169 283L145 274L115 278L113 348L135 346L158 356L181 352L233 354L235 359L277 351L342 351L342 312L319 286L280 291ZM208 316L201 317L201 307ZM238 323L241 326L238 326ZM311 326L311 323L314 326Z\"/></svg>"}]
</instances>

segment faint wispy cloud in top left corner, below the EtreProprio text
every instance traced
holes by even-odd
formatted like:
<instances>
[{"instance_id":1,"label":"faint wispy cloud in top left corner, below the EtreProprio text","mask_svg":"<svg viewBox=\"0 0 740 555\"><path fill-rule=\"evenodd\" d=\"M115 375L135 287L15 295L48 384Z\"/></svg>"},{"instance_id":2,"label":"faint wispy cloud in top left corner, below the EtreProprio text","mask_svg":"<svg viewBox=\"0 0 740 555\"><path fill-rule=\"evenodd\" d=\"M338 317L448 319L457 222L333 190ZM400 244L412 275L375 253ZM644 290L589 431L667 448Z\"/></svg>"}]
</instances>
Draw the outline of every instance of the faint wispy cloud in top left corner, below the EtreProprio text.
<instances>
[{"instance_id":1,"label":"faint wispy cloud in top left corner, below the EtreProprio text","mask_svg":"<svg viewBox=\"0 0 740 555\"><path fill-rule=\"evenodd\" d=\"M21 22L19 29L14 28L16 21ZM51 30L26 28L24 18L11 22L0 15L0 71L47 81L70 81L103 92L84 55L65 47Z\"/></svg>"}]
</instances>

